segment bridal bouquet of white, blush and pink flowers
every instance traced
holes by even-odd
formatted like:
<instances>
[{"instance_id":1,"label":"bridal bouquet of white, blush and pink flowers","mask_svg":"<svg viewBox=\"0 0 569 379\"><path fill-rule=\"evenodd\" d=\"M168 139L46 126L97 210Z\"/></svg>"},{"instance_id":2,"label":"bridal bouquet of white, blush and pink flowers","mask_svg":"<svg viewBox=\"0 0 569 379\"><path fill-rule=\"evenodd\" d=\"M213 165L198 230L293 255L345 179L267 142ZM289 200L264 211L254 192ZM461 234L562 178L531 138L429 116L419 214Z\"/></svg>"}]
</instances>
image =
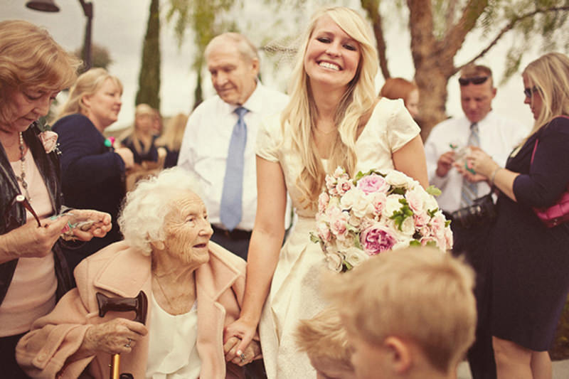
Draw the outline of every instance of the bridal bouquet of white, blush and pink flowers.
<instances>
[{"instance_id":1,"label":"bridal bouquet of white, blush and pink flowers","mask_svg":"<svg viewBox=\"0 0 569 379\"><path fill-rule=\"evenodd\" d=\"M400 171L370 170L349 178L338 167L326 175L326 189L318 199L317 233L329 269L343 272L373 255L410 245L452 248L450 221L434 196Z\"/></svg>"}]
</instances>

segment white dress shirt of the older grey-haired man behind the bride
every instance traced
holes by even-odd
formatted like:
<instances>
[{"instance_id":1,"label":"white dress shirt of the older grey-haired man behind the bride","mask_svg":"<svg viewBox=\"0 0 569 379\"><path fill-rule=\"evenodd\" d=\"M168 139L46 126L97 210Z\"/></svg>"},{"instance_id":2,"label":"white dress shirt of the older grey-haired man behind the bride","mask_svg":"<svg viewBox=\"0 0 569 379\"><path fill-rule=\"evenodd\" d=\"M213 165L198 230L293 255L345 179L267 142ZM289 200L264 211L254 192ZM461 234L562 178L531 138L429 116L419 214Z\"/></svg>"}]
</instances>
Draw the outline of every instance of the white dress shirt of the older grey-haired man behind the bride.
<instances>
[{"instance_id":1,"label":"white dress shirt of the older grey-haired man behind the bride","mask_svg":"<svg viewBox=\"0 0 569 379\"><path fill-rule=\"evenodd\" d=\"M243 217L238 229L252 230L257 211L257 175L255 141L259 125L267 116L280 112L288 103L288 96L264 87L257 81L255 91L243 104L249 112L243 119L247 125L245 167L243 169ZM202 102L190 115L180 148L178 166L196 174L201 184L203 203L210 222L224 228L219 218L225 162L233 127L238 116L230 105L216 95ZM288 213L287 213L288 215Z\"/></svg>"}]
</instances>

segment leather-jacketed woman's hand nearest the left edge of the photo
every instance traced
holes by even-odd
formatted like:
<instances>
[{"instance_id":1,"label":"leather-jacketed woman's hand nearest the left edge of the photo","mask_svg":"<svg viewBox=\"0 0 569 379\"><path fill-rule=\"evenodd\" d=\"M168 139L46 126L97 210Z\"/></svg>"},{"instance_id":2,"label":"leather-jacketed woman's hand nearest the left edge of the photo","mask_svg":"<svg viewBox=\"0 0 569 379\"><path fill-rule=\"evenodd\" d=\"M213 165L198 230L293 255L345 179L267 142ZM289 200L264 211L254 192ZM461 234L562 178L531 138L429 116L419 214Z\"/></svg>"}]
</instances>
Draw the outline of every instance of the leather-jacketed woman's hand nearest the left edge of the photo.
<instances>
[{"instance_id":1,"label":"leather-jacketed woman's hand nearest the left edge of the photo","mask_svg":"<svg viewBox=\"0 0 569 379\"><path fill-rule=\"evenodd\" d=\"M40 258L51 252L61 233L68 230L68 216L56 220L43 219L41 227L33 218L20 227L6 233L6 250L14 257Z\"/></svg>"}]
</instances>

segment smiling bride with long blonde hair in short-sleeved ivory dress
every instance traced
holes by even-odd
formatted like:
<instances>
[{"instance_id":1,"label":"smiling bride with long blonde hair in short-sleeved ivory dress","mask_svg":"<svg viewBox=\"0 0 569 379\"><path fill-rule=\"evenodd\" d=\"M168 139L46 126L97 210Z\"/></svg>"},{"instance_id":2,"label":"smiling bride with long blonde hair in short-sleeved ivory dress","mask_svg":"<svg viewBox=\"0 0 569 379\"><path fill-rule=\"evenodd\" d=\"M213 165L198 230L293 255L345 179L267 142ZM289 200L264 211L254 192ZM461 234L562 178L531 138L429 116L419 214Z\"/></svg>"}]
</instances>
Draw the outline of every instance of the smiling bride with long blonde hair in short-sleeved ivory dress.
<instances>
[{"instance_id":1,"label":"smiling bride with long blonde hair in short-sleeved ivory dress","mask_svg":"<svg viewBox=\"0 0 569 379\"><path fill-rule=\"evenodd\" d=\"M419 127L403 101L376 98L377 56L371 30L355 11L314 14L292 73L289 105L267 119L257 137L257 217L245 299L225 338L241 338L244 351L259 324L268 378L316 377L294 330L299 319L326 305L318 288L324 254L309 240L326 173L337 166L350 176L397 169L427 186ZM298 222L281 248L287 191Z\"/></svg>"}]
</instances>

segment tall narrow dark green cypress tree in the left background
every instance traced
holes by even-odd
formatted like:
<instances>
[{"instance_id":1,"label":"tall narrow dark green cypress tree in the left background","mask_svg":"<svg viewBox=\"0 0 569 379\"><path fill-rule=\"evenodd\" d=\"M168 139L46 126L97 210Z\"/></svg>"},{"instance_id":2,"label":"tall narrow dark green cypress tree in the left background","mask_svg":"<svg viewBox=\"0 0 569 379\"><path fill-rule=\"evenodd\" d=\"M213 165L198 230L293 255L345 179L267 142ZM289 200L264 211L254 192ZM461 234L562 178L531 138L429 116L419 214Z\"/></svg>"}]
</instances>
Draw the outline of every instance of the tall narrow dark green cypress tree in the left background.
<instances>
[{"instance_id":1,"label":"tall narrow dark green cypress tree in the left background","mask_svg":"<svg viewBox=\"0 0 569 379\"><path fill-rule=\"evenodd\" d=\"M135 103L160 110L160 16L159 0L151 0L147 34L142 48L139 90Z\"/></svg>"}]
</instances>

